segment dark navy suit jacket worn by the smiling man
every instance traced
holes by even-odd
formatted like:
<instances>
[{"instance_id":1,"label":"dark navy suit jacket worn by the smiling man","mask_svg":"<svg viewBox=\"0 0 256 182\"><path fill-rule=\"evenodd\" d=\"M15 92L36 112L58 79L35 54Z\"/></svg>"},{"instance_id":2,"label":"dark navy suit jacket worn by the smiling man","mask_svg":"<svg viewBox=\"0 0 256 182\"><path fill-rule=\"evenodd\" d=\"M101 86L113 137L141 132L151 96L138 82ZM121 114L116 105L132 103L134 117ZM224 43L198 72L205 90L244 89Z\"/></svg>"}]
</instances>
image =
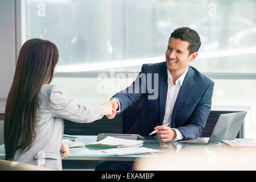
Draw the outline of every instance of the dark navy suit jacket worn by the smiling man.
<instances>
[{"instance_id":1,"label":"dark navy suit jacket worn by the smiling man","mask_svg":"<svg viewBox=\"0 0 256 182\"><path fill-rule=\"evenodd\" d=\"M158 73L156 75L159 79L154 80L153 74L149 74L152 76L148 77L147 73ZM140 79L141 75L145 75L146 80ZM154 130L154 127L162 125L168 90L167 79L166 62L143 64L141 72L136 78L136 81L139 80L140 92L135 91L137 85L135 81L127 89L112 97L120 101L121 111L124 111L145 94L143 113L129 133L148 136ZM148 85L150 81L152 83ZM151 93L152 90L148 86L153 88L154 81L158 82L156 84L159 86L159 95L152 100L150 96L154 93ZM205 123L212 106L213 86L214 82L212 80L202 75L197 69L189 66L173 108L171 121L171 127L178 129L184 135L183 140L198 138L204 132ZM143 91L141 88L145 88L145 90ZM131 93L132 89L133 93Z\"/></svg>"}]
</instances>

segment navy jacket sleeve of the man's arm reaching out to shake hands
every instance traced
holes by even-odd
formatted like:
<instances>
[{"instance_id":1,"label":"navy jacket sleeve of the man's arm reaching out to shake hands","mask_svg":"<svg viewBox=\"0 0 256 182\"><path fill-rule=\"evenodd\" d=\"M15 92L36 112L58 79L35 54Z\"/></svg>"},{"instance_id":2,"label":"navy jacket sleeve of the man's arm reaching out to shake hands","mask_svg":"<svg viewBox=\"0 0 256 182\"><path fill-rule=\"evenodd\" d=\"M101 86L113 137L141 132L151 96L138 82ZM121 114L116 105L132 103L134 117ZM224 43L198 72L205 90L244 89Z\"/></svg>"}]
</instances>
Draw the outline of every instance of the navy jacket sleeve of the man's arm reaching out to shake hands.
<instances>
[{"instance_id":1,"label":"navy jacket sleeve of the man's arm reaching out to shake hands","mask_svg":"<svg viewBox=\"0 0 256 182\"><path fill-rule=\"evenodd\" d=\"M146 77L145 77L145 64L141 67L141 72L126 89L115 94L111 99L116 98L120 102L120 111L124 111L127 107L135 104L139 98L146 93Z\"/></svg>"}]
</instances>

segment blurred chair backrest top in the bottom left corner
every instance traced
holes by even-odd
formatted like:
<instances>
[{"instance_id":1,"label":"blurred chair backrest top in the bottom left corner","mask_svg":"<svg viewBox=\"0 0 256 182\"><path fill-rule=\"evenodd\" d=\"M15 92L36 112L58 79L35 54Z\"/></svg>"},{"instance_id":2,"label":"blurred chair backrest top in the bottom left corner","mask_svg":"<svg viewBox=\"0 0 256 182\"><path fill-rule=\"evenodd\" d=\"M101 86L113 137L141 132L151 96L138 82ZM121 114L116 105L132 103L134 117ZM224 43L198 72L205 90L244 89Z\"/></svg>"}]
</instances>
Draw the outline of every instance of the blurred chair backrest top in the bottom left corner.
<instances>
[{"instance_id":1,"label":"blurred chair backrest top in the bottom left corner","mask_svg":"<svg viewBox=\"0 0 256 182\"><path fill-rule=\"evenodd\" d=\"M46 167L0 159L0 171L56 171Z\"/></svg>"}]
</instances>

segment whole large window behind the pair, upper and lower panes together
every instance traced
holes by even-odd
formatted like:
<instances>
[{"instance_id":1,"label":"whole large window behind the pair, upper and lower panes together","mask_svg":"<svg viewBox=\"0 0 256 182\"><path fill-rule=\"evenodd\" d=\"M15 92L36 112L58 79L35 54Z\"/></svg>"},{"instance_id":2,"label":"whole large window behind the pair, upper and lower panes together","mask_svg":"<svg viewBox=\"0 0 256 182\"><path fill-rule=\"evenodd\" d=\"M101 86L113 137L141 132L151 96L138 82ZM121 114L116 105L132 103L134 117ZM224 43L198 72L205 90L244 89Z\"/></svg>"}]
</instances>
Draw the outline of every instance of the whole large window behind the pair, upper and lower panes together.
<instances>
[{"instance_id":1,"label":"whole large window behind the pair, upper and lower panes together","mask_svg":"<svg viewBox=\"0 0 256 182\"><path fill-rule=\"evenodd\" d=\"M81 104L100 104L133 81L144 63L165 61L170 33L190 27L201 37L191 64L215 82L213 106L256 103L256 1L27 0L27 39L59 49L54 84ZM107 73L106 92L98 92ZM124 73L127 78L119 78ZM136 74L133 75L136 77ZM121 82L121 84L120 84ZM116 86L118 85L118 86ZM113 89L113 86L115 89Z\"/></svg>"}]
</instances>

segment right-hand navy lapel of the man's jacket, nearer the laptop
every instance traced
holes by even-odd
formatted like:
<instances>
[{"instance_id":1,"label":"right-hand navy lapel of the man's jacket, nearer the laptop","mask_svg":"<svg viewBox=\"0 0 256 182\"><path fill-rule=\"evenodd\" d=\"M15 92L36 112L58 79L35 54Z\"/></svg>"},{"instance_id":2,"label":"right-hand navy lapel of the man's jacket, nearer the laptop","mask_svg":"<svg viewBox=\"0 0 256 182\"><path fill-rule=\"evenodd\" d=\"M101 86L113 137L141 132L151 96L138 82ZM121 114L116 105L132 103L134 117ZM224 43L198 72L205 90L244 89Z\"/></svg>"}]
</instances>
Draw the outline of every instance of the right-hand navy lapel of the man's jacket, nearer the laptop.
<instances>
[{"instance_id":1,"label":"right-hand navy lapel of the man's jacket, nearer the laptop","mask_svg":"<svg viewBox=\"0 0 256 182\"><path fill-rule=\"evenodd\" d=\"M180 93L178 93L177 100L176 100L175 105L173 107L172 127L176 127L175 126L176 115L177 115L178 111L180 110L182 104L184 103L186 97L188 96L188 93L189 93L189 90L190 90L191 86L193 85L192 76L193 76L193 70L192 70L192 68L189 67L188 73L186 74L186 76L184 78L184 81L183 81L182 86L180 88Z\"/></svg>"}]
</instances>

